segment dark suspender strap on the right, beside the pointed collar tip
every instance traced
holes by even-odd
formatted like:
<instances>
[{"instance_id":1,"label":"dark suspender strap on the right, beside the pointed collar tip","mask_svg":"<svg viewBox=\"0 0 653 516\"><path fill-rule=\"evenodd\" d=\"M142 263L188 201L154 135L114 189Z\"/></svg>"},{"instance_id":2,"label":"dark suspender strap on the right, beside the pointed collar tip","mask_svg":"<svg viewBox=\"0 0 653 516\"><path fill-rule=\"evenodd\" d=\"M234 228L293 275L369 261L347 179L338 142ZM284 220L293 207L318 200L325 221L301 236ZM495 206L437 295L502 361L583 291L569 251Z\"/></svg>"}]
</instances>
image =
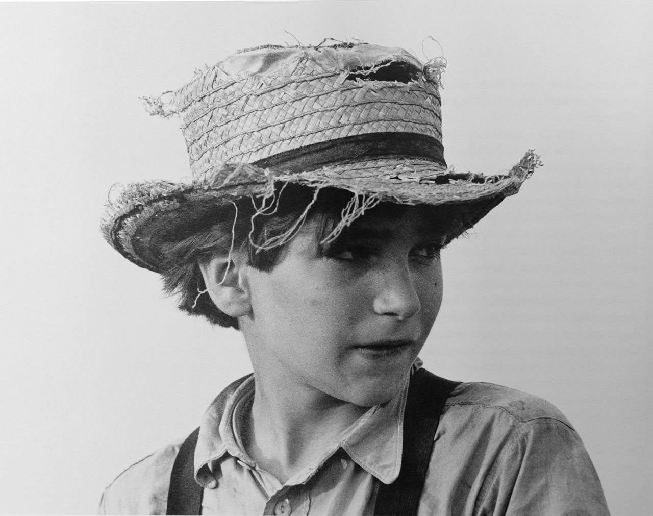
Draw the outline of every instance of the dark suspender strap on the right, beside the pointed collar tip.
<instances>
[{"instance_id":1,"label":"dark suspender strap on the right, beside the pointed collar tip","mask_svg":"<svg viewBox=\"0 0 653 516\"><path fill-rule=\"evenodd\" d=\"M379 485L375 515L417 514L440 415L456 385L460 382L439 378L425 369L411 377L404 411L402 468L393 483Z\"/></svg>"}]
</instances>

